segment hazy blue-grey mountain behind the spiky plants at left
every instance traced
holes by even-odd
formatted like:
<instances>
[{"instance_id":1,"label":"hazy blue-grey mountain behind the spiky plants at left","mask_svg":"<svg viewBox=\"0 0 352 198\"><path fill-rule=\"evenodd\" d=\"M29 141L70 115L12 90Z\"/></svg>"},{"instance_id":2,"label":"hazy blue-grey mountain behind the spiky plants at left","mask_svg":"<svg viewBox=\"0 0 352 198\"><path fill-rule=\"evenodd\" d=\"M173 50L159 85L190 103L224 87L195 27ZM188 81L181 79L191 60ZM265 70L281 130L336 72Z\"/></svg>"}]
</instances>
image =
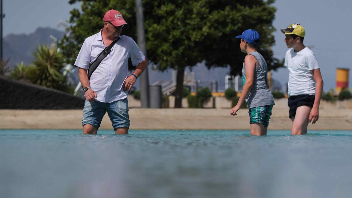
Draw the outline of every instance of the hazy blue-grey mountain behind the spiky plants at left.
<instances>
[{"instance_id":1,"label":"hazy blue-grey mountain behind the spiky plants at left","mask_svg":"<svg viewBox=\"0 0 352 198\"><path fill-rule=\"evenodd\" d=\"M33 52L41 45L50 45L56 43L49 38L50 35L61 39L65 32L55 30L49 27L39 27L33 33L26 34L9 34L4 37L4 60L10 58L8 66L14 68L16 64L23 61L25 64L31 64Z\"/></svg>"}]
</instances>

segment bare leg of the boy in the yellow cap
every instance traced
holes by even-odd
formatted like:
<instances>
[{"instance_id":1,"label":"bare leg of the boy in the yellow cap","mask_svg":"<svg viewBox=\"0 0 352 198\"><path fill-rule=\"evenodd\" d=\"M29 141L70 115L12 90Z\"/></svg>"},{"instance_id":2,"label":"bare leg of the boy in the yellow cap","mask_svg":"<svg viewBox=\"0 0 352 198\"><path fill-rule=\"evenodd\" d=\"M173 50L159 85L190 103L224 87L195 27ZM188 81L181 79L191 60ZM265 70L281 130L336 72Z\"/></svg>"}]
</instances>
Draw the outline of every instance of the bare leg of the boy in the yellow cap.
<instances>
[{"instance_id":1,"label":"bare leg of the boy in the yellow cap","mask_svg":"<svg viewBox=\"0 0 352 198\"><path fill-rule=\"evenodd\" d=\"M296 116L292 116L292 131L291 135L307 134L309 123L309 113L312 110L310 106L299 106L296 110Z\"/></svg>"}]
</instances>

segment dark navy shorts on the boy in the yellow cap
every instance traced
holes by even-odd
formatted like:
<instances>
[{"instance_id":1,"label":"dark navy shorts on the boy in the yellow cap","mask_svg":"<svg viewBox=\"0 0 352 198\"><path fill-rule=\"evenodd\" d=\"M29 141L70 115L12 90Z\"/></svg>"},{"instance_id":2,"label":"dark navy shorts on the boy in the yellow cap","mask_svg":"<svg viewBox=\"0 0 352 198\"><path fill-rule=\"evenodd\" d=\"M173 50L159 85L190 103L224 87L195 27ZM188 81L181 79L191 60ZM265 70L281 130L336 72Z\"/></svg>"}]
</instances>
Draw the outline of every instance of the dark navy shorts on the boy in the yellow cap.
<instances>
[{"instance_id":1,"label":"dark navy shorts on the boy in the yellow cap","mask_svg":"<svg viewBox=\"0 0 352 198\"><path fill-rule=\"evenodd\" d=\"M310 106L313 107L315 95L291 95L288 98L287 105L290 107L290 118L296 116L296 110L299 106Z\"/></svg>"}]
</instances>

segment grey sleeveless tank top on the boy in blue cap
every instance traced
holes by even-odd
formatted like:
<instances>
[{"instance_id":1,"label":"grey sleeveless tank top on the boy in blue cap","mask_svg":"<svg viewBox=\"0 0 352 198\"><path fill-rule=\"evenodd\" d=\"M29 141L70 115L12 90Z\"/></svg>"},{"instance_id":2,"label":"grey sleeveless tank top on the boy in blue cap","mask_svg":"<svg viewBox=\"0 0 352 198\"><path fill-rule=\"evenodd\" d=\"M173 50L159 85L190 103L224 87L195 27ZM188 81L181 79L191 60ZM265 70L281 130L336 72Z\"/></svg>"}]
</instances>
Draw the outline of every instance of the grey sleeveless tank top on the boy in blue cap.
<instances>
[{"instance_id":1,"label":"grey sleeveless tank top on the boy in blue cap","mask_svg":"<svg viewBox=\"0 0 352 198\"><path fill-rule=\"evenodd\" d=\"M253 51L247 56L254 56L258 61L258 66L254 72L253 86L246 98L247 108L253 108L265 105L275 105L274 97L271 94L270 89L266 86L268 82L268 66L264 60L264 57L257 51ZM243 62L243 85L246 82L246 68Z\"/></svg>"}]
</instances>

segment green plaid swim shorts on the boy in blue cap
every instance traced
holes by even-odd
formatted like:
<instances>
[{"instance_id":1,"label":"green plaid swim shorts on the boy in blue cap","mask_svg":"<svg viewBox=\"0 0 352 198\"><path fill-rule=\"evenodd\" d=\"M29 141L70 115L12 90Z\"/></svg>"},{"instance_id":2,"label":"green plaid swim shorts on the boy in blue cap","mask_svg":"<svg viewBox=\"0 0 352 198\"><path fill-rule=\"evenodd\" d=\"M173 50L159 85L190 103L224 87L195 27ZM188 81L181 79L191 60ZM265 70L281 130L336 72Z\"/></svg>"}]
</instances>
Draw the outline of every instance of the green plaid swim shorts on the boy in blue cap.
<instances>
[{"instance_id":1,"label":"green plaid swim shorts on the boy in blue cap","mask_svg":"<svg viewBox=\"0 0 352 198\"><path fill-rule=\"evenodd\" d=\"M264 127L268 127L272 106L274 105L258 106L249 109L249 123L262 123Z\"/></svg>"}]
</instances>

